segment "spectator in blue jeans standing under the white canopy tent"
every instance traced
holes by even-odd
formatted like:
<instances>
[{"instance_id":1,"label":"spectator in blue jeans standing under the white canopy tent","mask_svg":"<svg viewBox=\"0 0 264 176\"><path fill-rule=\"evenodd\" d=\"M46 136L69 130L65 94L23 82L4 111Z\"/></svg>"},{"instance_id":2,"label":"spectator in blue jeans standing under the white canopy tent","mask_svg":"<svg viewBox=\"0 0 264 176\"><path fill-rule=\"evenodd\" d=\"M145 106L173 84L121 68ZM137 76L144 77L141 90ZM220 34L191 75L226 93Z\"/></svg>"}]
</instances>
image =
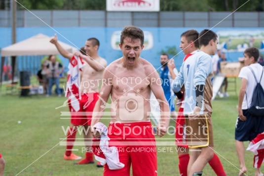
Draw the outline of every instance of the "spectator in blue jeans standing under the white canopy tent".
<instances>
[{"instance_id":1,"label":"spectator in blue jeans standing under the white canopy tent","mask_svg":"<svg viewBox=\"0 0 264 176\"><path fill-rule=\"evenodd\" d=\"M48 78L48 93L47 96L52 94L52 86L56 85L56 93L58 96L61 96L59 88L59 75L63 72L62 65L56 61L54 55L50 55L47 63L47 78Z\"/></svg>"}]
</instances>

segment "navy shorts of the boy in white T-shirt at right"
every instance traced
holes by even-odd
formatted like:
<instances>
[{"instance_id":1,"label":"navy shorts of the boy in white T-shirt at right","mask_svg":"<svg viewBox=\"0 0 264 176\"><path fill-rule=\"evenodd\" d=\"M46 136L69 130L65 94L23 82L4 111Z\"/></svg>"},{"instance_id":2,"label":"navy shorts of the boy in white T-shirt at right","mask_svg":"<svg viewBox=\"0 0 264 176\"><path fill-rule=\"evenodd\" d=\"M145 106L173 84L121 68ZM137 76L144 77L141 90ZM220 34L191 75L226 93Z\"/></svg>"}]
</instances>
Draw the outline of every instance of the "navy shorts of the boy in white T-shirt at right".
<instances>
[{"instance_id":1,"label":"navy shorts of the boy in white T-shirt at right","mask_svg":"<svg viewBox=\"0 0 264 176\"><path fill-rule=\"evenodd\" d=\"M251 141L259 133L264 132L264 117L253 117L248 110L243 110L246 121L241 121L237 117L235 124L235 140Z\"/></svg>"}]
</instances>

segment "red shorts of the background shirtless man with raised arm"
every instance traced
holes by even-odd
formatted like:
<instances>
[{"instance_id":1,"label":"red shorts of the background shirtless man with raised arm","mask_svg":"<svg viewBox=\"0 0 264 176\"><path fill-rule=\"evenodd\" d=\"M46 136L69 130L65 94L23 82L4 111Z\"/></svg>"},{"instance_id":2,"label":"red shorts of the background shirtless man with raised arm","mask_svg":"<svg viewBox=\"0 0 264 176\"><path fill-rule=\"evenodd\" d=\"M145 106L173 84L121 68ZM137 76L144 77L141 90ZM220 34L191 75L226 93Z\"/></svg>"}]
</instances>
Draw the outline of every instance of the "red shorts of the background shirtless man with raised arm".
<instances>
[{"instance_id":1,"label":"red shorts of the background shirtless man with raised arm","mask_svg":"<svg viewBox=\"0 0 264 176\"><path fill-rule=\"evenodd\" d=\"M99 93L84 93L81 95L81 100L79 101L80 109L78 112L72 112L73 108L71 102L69 102L69 109L72 115L71 123L75 126L79 125L91 125L92 113L94 106L99 98ZM77 115L77 113L81 113ZM84 113L84 114L82 114Z\"/></svg>"}]
</instances>

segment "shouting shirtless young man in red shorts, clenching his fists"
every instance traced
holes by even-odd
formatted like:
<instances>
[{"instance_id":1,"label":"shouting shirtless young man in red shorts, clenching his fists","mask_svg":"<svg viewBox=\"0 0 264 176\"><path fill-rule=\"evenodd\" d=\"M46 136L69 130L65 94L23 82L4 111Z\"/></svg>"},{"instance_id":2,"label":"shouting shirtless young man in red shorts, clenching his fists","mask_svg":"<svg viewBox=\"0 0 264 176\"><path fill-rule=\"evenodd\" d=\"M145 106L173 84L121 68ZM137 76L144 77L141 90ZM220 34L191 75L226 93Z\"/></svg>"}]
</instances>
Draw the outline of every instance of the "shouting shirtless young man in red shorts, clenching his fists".
<instances>
[{"instance_id":1,"label":"shouting shirtless young man in red shorts, clenching his fists","mask_svg":"<svg viewBox=\"0 0 264 176\"><path fill-rule=\"evenodd\" d=\"M157 175L155 139L148 114L151 91L161 100L159 104L161 120L157 128L159 136L166 133L170 109L158 73L150 62L140 57L143 44L144 34L141 29L133 26L125 27L119 44L123 56L113 61L104 72L103 80L106 82L102 85L100 98L93 112L92 131L96 138L100 137L93 126L102 117L97 112L104 111L104 102L107 102L111 95L111 105L117 106L115 112L113 108L111 109L112 113L116 114L111 116L108 131L109 145L118 147L119 161L125 165L122 169L110 170L106 164L104 176L129 176L131 164L134 176ZM134 109L136 110L132 111ZM137 146L128 141L135 142ZM147 142L147 145L142 142ZM142 150L137 152L136 148L139 147Z\"/></svg>"}]
</instances>

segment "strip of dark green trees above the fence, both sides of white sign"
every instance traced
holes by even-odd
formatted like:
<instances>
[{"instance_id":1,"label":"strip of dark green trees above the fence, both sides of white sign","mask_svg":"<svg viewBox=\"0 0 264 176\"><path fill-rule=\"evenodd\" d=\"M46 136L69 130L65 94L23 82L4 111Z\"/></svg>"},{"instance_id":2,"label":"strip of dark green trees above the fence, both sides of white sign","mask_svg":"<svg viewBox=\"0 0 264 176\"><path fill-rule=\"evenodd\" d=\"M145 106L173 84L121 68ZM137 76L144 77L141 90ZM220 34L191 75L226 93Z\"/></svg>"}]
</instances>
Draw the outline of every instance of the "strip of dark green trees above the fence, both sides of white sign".
<instances>
[{"instance_id":1,"label":"strip of dark green trees above the fence, both sides of white sign","mask_svg":"<svg viewBox=\"0 0 264 176\"><path fill-rule=\"evenodd\" d=\"M160 0L161 11L234 11L247 0ZM18 0L28 9L106 10L106 0ZM0 9L6 6L0 0ZM23 9L18 5L19 9ZM250 0L238 11L264 11L264 0Z\"/></svg>"}]
</instances>

